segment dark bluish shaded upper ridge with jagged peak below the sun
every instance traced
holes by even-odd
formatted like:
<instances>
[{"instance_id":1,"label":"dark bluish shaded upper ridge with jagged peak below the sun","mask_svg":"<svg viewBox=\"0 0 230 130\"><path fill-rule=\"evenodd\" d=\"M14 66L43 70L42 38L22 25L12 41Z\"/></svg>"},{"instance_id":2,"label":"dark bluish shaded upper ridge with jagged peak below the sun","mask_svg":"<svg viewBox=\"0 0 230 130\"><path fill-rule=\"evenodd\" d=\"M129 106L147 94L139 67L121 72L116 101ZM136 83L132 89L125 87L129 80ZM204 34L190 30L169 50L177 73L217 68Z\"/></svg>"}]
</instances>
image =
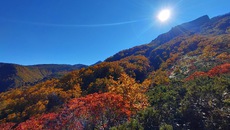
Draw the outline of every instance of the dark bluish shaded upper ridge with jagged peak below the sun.
<instances>
[{"instance_id":1,"label":"dark bluish shaded upper ridge with jagged peak below the sun","mask_svg":"<svg viewBox=\"0 0 230 130\"><path fill-rule=\"evenodd\" d=\"M136 46L127 50L118 52L117 54L107 58L105 61L117 61L131 55L144 55L145 57L152 57L153 50L162 44L168 44L170 40L181 38L187 39L194 35L214 36L230 33L230 13L217 16L210 19L207 15L197 18L191 22L187 22L176 27L173 27L169 32L159 35L149 44ZM178 45L177 45L178 46ZM166 48L165 48L166 49ZM151 60L151 62L153 62ZM155 62L155 61L154 61ZM154 63L152 63L154 64ZM154 65L158 69L158 65Z\"/></svg>"}]
</instances>

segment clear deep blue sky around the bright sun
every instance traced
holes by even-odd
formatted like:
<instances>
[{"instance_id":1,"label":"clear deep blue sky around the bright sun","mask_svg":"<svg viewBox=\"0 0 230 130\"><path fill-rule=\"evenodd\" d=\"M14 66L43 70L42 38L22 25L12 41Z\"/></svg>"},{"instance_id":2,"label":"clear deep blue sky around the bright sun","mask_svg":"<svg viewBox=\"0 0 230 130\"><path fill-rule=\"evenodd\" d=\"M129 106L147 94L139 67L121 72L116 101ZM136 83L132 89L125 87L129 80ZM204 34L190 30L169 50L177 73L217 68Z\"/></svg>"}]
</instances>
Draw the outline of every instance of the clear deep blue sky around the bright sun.
<instances>
[{"instance_id":1,"label":"clear deep blue sky around the bright sun","mask_svg":"<svg viewBox=\"0 0 230 130\"><path fill-rule=\"evenodd\" d=\"M160 23L160 9L172 17ZM230 12L230 0L1 0L0 62L93 64L173 26Z\"/></svg>"}]
</instances>

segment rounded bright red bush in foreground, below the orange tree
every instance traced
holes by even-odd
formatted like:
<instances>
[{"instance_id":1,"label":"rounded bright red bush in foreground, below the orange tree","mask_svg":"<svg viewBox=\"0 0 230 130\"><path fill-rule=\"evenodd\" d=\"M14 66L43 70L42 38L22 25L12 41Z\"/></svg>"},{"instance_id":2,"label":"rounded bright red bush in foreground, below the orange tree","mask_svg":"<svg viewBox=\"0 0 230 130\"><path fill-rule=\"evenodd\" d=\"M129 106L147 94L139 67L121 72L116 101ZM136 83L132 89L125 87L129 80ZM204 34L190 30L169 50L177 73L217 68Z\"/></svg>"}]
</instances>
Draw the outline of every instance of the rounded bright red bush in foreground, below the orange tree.
<instances>
[{"instance_id":1,"label":"rounded bright red bush in foreground, below the orange tree","mask_svg":"<svg viewBox=\"0 0 230 130\"><path fill-rule=\"evenodd\" d=\"M94 93L71 100L59 114L61 128L109 128L130 117L130 106L123 97L113 93ZM68 127L66 127L68 126Z\"/></svg>"}]
</instances>

